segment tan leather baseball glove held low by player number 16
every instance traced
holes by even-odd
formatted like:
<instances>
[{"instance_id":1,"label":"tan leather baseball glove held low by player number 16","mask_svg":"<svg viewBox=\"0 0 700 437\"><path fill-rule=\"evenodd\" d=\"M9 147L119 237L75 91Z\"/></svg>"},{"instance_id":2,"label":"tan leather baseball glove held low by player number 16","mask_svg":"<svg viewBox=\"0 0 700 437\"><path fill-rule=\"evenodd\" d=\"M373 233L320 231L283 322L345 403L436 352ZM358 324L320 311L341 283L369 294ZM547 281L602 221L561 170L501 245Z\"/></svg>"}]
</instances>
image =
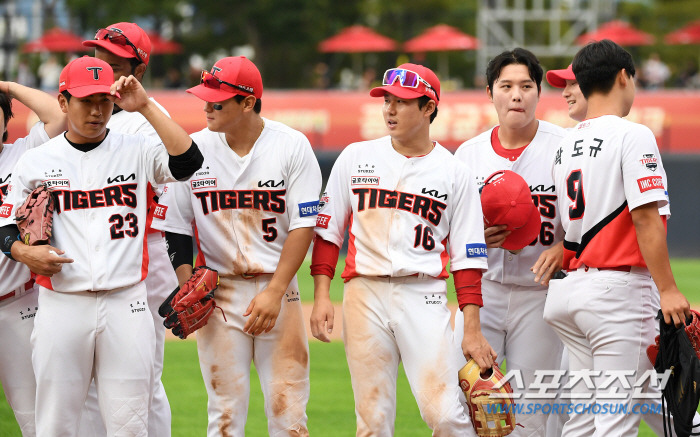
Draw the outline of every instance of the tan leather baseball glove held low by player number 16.
<instances>
[{"instance_id":1,"label":"tan leather baseball glove held low by player number 16","mask_svg":"<svg viewBox=\"0 0 700 437\"><path fill-rule=\"evenodd\" d=\"M506 382L501 386L503 373L494 364L481 375L481 368L474 360L459 371L459 386L467 398L472 426L479 437L503 437L515 428L515 401L513 389Z\"/></svg>"}]
</instances>

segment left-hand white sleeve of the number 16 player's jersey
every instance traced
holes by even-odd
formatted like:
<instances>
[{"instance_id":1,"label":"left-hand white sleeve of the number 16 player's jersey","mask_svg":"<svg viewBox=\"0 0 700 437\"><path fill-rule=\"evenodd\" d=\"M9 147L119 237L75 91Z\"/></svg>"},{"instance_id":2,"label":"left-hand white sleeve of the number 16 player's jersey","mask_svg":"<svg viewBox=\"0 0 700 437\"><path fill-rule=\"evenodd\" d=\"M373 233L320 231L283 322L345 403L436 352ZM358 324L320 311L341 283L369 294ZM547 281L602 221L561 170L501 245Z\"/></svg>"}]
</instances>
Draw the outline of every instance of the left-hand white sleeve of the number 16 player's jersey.
<instances>
[{"instance_id":1,"label":"left-hand white sleeve of the number 16 player's jersey","mask_svg":"<svg viewBox=\"0 0 700 437\"><path fill-rule=\"evenodd\" d=\"M343 246L345 228L352 214L349 155L350 152L345 149L335 160L326 189L321 195L321 208L316 221L316 234L338 247Z\"/></svg>"}]
</instances>

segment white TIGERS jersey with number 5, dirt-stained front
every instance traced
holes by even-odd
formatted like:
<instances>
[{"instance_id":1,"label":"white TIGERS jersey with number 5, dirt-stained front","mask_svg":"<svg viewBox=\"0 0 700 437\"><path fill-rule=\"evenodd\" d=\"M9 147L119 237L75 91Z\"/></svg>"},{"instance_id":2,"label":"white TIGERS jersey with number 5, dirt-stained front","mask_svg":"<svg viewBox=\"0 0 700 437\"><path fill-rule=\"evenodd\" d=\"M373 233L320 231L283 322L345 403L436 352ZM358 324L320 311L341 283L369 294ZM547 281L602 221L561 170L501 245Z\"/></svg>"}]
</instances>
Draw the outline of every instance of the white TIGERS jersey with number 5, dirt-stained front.
<instances>
[{"instance_id":1,"label":"white TIGERS jersey with number 5, dirt-stained front","mask_svg":"<svg viewBox=\"0 0 700 437\"><path fill-rule=\"evenodd\" d=\"M189 180L168 184L156 207L153 227L194 233L197 265L220 275L274 273L289 232L316 224L321 169L309 140L282 123L264 121L243 158L224 134L192 134L204 164Z\"/></svg>"}]
</instances>

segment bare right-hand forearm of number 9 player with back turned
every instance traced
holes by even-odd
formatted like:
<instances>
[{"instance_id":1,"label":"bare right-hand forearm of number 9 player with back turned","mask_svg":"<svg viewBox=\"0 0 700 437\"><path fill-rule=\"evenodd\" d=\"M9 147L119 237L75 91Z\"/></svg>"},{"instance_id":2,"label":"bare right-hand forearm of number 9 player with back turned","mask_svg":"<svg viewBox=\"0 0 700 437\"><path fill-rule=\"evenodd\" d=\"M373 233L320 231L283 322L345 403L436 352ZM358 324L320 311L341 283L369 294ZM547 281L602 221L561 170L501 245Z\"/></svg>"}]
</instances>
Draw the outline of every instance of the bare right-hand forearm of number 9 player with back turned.
<instances>
[{"instance_id":1,"label":"bare right-hand forearm of number 9 player with back turned","mask_svg":"<svg viewBox=\"0 0 700 437\"><path fill-rule=\"evenodd\" d=\"M666 229L659 215L656 202L642 205L630 211L637 233L639 250L660 292L676 287L671 263L668 259Z\"/></svg>"}]
</instances>

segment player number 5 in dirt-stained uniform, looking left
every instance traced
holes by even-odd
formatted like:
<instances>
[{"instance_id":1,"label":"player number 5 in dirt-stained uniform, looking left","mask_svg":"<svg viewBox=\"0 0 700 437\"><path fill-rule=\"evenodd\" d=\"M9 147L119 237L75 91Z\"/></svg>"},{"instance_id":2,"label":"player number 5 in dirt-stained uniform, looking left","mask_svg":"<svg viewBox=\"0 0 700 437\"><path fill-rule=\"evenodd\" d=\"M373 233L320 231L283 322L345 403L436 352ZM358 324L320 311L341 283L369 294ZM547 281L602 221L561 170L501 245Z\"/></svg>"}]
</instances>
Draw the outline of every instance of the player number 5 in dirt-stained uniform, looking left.
<instances>
[{"instance_id":1,"label":"player number 5 in dirt-stained uniform, looking left","mask_svg":"<svg viewBox=\"0 0 700 437\"><path fill-rule=\"evenodd\" d=\"M296 272L313 237L321 170L306 137L260 116L263 83L242 56L219 60L188 92L207 128L192 135L204 165L168 184L153 226L165 231L182 285L197 265L218 271L215 313L197 331L210 437L243 436L250 363L271 436L307 436L309 352ZM194 225L194 230L193 230Z\"/></svg>"}]
</instances>

